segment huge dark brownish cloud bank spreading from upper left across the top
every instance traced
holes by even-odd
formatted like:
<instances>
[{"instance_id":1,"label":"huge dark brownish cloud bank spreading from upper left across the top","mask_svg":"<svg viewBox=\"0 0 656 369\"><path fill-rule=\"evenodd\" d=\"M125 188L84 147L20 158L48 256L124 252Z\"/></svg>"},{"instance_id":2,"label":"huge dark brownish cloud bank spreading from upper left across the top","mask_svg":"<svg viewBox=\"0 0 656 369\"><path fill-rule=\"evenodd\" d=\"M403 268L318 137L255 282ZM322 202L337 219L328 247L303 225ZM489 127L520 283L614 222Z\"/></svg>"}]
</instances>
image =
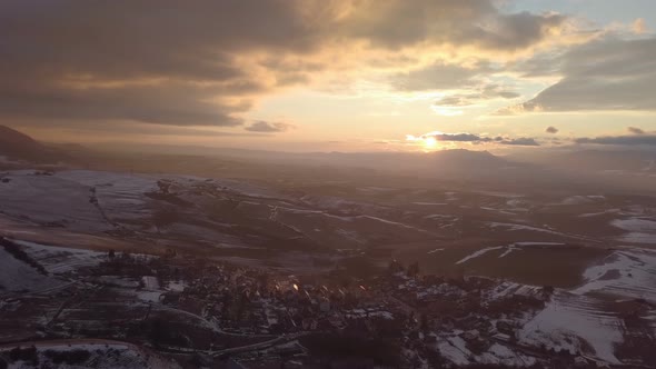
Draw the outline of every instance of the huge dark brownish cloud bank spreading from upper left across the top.
<instances>
[{"instance_id":1,"label":"huge dark brownish cloud bank spreading from upper left across the top","mask_svg":"<svg viewBox=\"0 0 656 369\"><path fill-rule=\"evenodd\" d=\"M232 127L280 87L341 76L339 68L359 72L360 53L389 60L399 48L514 53L558 40L567 27L560 14L506 13L495 3L162 0L153 11L145 0L7 0L0 2L0 116L43 124ZM408 69L401 59L395 72ZM401 76L396 86L461 87L484 71L438 64Z\"/></svg>"}]
</instances>

